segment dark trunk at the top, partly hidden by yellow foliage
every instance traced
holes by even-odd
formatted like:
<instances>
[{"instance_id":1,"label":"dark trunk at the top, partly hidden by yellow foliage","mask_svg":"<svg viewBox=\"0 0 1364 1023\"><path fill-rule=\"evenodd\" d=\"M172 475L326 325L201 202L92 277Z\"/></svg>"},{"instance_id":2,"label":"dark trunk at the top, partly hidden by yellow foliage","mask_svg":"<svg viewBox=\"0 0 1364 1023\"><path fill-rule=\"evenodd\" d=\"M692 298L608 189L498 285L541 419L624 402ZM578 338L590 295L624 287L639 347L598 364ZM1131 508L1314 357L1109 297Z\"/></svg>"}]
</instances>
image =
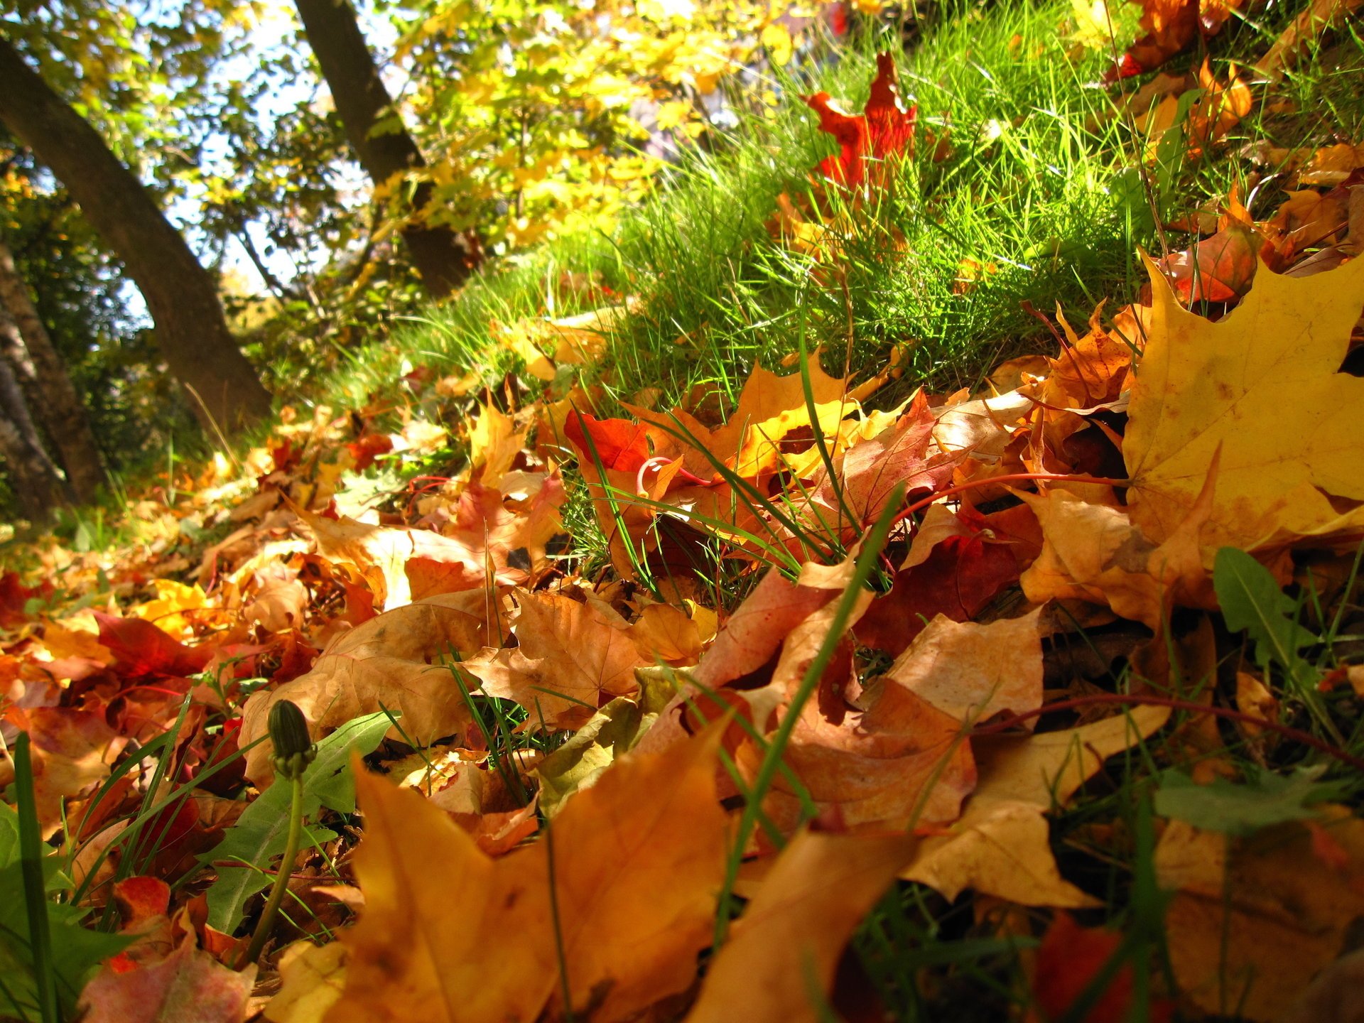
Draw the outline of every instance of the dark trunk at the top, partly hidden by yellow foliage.
<instances>
[{"instance_id":1,"label":"dark trunk at the top, partly hidden by yellow foliage","mask_svg":"<svg viewBox=\"0 0 1364 1023\"><path fill-rule=\"evenodd\" d=\"M393 100L383 87L349 0L295 0L295 5L331 90L351 149L370 179L378 186L394 175L426 166L420 150L401 124L397 131L372 134L379 119L391 112ZM430 198L431 183L421 181L411 209L420 210ZM460 244L458 236L449 228L409 224L402 228L402 240L421 274L421 282L434 297L449 295L469 276L475 255Z\"/></svg>"}]
</instances>

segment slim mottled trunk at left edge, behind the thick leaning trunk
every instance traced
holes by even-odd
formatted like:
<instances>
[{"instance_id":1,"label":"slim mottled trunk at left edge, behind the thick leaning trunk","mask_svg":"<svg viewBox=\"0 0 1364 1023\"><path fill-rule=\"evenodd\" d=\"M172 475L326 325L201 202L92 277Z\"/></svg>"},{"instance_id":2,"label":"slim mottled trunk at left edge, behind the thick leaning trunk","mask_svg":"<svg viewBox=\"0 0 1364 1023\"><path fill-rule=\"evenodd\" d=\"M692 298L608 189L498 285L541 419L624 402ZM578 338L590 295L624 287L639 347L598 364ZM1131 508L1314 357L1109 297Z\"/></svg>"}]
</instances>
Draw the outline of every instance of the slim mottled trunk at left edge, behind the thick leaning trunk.
<instances>
[{"instance_id":1,"label":"slim mottled trunk at left edge, behind the thick leaning trunk","mask_svg":"<svg viewBox=\"0 0 1364 1023\"><path fill-rule=\"evenodd\" d=\"M8 322L7 322L8 318ZM42 428L61 457L67 471L67 481L76 501L94 501L100 487L106 483L104 465L100 462L100 445L95 443L90 417L76 389L71 386L65 363L52 346L48 329L33 307L29 289L19 269L14 263L10 247L0 241L0 345L10 349L11 363L27 370L20 379L38 416ZM31 375L30 375L31 374Z\"/></svg>"}]
</instances>

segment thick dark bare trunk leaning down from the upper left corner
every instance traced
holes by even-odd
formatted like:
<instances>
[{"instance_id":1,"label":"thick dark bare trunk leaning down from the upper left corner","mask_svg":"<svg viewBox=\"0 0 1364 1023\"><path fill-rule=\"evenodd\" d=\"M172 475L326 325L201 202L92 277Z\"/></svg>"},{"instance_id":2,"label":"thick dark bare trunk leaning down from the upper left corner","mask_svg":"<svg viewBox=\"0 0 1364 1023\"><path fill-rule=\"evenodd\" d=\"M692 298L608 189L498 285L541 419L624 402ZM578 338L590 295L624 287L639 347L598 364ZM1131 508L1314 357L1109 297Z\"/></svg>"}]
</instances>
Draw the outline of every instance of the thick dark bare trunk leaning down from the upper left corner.
<instances>
[{"instance_id":1,"label":"thick dark bare trunk leaning down from the upper left corner","mask_svg":"<svg viewBox=\"0 0 1364 1023\"><path fill-rule=\"evenodd\" d=\"M218 289L138 177L0 37L0 120L80 203L147 300L157 345L206 426L231 430L270 411L237 348Z\"/></svg>"}]
</instances>

